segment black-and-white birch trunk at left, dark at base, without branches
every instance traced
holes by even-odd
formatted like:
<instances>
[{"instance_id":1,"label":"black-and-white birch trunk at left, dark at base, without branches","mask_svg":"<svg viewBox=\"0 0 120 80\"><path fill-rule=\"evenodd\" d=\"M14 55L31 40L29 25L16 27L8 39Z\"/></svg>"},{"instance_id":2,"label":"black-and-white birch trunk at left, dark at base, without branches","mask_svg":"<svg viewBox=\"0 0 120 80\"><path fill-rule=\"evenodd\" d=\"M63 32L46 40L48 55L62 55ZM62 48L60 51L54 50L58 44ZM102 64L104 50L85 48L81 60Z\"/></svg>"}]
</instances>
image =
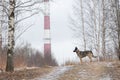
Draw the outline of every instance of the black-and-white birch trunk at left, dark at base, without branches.
<instances>
[{"instance_id":1,"label":"black-and-white birch trunk at left, dark at base, without branches","mask_svg":"<svg viewBox=\"0 0 120 80\"><path fill-rule=\"evenodd\" d=\"M9 22L8 22L8 51L7 51L7 65L6 71L12 72L14 71L13 64L13 49L14 49L14 8L15 8L15 0L9 0L10 10L9 10Z\"/></svg>"}]
</instances>

